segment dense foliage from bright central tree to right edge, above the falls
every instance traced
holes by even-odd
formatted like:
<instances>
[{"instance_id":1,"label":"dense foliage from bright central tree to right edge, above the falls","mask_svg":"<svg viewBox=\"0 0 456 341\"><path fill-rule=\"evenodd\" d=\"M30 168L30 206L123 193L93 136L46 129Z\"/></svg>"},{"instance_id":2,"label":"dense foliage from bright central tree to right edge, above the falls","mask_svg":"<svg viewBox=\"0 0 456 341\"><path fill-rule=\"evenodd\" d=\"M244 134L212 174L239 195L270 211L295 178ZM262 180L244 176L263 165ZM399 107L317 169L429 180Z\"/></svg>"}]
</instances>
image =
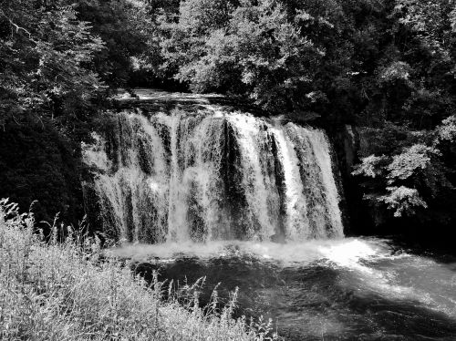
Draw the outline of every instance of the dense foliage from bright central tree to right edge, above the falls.
<instances>
[{"instance_id":1,"label":"dense foliage from bright central tree to right edge, above the falls","mask_svg":"<svg viewBox=\"0 0 456 341\"><path fill-rule=\"evenodd\" d=\"M453 5L182 1L164 62L192 90L241 94L306 119L430 129L451 113Z\"/></svg>"}]
</instances>

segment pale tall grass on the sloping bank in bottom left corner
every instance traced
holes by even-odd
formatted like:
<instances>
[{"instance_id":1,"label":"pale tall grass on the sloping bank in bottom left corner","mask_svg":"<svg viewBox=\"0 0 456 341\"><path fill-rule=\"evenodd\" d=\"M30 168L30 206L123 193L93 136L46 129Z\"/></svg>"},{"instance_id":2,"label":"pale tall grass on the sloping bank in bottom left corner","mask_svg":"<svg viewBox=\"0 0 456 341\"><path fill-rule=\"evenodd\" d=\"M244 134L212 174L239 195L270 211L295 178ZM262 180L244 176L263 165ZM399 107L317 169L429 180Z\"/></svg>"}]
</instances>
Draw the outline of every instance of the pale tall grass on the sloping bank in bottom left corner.
<instances>
[{"instance_id":1,"label":"pale tall grass on the sloping bank in bottom left corner","mask_svg":"<svg viewBox=\"0 0 456 341\"><path fill-rule=\"evenodd\" d=\"M167 292L165 299L165 284L146 284L129 266L101 261L96 240L70 231L63 243L56 235L45 243L33 225L32 215L0 202L2 340L277 338L269 323L233 319L234 299L221 311L216 302L200 308L197 292L187 291L190 299Z\"/></svg>"}]
</instances>

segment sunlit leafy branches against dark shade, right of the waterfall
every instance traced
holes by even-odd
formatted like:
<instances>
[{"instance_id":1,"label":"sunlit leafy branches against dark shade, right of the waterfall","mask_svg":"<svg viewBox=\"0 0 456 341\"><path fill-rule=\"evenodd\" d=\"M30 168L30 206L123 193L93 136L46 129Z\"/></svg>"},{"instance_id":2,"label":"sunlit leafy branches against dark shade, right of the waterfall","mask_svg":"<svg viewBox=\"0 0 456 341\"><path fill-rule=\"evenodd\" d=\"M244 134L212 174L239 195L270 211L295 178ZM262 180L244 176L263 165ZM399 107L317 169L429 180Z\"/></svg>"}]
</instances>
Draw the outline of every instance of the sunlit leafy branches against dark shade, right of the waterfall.
<instances>
[{"instance_id":1,"label":"sunlit leafy branches against dark shade, right of the waterfall","mask_svg":"<svg viewBox=\"0 0 456 341\"><path fill-rule=\"evenodd\" d=\"M448 130L441 130L440 127L433 134L409 133L409 141L421 142L396 149L392 155L362 158L352 174L363 179L361 184L366 190L364 200L372 204L386 204L395 217L400 217L422 212L430 202L453 191L451 174L436 142L440 139L440 132L451 138L451 119L446 123ZM433 138L434 135L437 137ZM389 143L396 142L389 140Z\"/></svg>"}]
</instances>

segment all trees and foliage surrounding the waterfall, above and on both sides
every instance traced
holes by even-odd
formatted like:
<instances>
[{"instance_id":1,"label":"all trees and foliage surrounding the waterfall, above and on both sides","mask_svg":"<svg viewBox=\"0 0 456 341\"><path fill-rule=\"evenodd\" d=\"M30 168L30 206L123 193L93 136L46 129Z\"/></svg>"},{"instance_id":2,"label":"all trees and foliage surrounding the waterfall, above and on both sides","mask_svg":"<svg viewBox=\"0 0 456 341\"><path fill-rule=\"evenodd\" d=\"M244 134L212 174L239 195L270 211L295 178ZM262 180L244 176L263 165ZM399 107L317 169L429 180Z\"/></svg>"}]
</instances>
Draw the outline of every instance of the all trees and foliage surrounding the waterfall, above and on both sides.
<instances>
[{"instance_id":1,"label":"all trees and foliage surrounding the waterfall, above and on both sides","mask_svg":"<svg viewBox=\"0 0 456 341\"><path fill-rule=\"evenodd\" d=\"M387 221L455 221L453 0L0 4L0 196L23 209L38 199L38 221L82 216L80 142L119 87L217 92L363 127L350 183L369 207Z\"/></svg>"}]
</instances>

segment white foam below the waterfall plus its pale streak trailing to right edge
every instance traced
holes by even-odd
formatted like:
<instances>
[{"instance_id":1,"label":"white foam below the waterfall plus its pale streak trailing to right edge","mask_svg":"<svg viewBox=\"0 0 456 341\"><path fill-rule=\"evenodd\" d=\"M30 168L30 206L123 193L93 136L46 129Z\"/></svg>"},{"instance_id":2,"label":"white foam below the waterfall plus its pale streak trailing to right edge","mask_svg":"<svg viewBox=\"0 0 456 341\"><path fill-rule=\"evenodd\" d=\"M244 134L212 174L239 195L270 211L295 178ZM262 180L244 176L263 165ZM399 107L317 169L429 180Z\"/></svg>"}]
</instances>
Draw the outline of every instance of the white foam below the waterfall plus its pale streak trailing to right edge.
<instances>
[{"instance_id":1,"label":"white foam below the waterfall plus its pale streak trailing to right edge","mask_svg":"<svg viewBox=\"0 0 456 341\"><path fill-rule=\"evenodd\" d=\"M340 285L358 294L380 295L456 317L456 273L449 265L409 253L393 252L384 240L346 238L306 243L125 244L110 256L136 262L174 262L181 257L254 259L281 268L328 266L341 274Z\"/></svg>"}]
</instances>

